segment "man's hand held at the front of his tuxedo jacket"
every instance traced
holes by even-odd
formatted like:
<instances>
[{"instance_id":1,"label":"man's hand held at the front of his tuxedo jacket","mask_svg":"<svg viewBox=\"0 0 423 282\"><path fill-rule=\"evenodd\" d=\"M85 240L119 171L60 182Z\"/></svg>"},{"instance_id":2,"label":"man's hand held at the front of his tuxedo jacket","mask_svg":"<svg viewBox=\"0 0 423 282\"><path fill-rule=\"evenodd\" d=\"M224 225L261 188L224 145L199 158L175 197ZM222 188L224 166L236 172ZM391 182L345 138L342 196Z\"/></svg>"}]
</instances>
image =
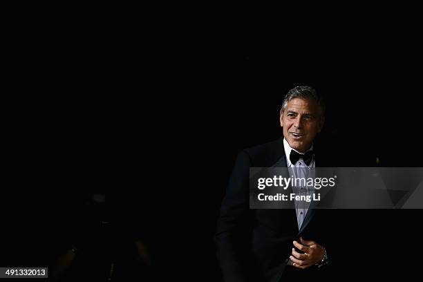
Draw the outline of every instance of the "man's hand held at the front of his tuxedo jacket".
<instances>
[{"instance_id":1,"label":"man's hand held at the front of his tuxedo jacket","mask_svg":"<svg viewBox=\"0 0 423 282\"><path fill-rule=\"evenodd\" d=\"M292 248L292 256L290 256L290 260L292 261L292 265L294 265L294 267L306 269L323 259L325 249L323 249L321 245L314 241L304 240L302 237L300 237L299 241L300 243L294 241L294 246L304 252L304 254L300 254Z\"/></svg>"}]
</instances>

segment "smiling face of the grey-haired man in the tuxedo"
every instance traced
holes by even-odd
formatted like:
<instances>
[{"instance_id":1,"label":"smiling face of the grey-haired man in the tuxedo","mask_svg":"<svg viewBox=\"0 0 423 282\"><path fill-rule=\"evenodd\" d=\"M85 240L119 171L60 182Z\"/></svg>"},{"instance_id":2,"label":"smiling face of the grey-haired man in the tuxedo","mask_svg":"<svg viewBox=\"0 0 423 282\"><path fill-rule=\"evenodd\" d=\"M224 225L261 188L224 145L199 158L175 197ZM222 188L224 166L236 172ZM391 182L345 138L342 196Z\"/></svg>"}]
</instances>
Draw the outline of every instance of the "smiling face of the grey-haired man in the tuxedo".
<instances>
[{"instance_id":1,"label":"smiling face of the grey-haired man in the tuxedo","mask_svg":"<svg viewBox=\"0 0 423 282\"><path fill-rule=\"evenodd\" d=\"M288 144L301 153L310 149L324 122L317 102L300 98L288 101L288 106L281 111L280 120Z\"/></svg>"}]
</instances>

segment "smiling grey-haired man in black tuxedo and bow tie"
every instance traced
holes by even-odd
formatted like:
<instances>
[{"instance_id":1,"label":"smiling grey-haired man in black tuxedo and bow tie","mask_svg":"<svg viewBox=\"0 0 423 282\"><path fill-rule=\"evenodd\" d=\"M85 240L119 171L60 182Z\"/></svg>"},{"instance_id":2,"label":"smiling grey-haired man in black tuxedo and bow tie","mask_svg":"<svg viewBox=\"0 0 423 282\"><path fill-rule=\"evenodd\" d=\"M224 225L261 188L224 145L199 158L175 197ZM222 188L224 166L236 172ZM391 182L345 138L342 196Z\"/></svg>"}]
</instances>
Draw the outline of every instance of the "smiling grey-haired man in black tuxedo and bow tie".
<instances>
[{"instance_id":1,"label":"smiling grey-haired man in black tuxedo and bow tie","mask_svg":"<svg viewBox=\"0 0 423 282\"><path fill-rule=\"evenodd\" d=\"M250 167L326 166L325 156L313 153L324 111L325 104L313 88L297 86L283 100L283 138L238 154L215 238L225 281L276 282L325 272L330 240L321 210L299 205L250 209L249 205Z\"/></svg>"}]
</instances>

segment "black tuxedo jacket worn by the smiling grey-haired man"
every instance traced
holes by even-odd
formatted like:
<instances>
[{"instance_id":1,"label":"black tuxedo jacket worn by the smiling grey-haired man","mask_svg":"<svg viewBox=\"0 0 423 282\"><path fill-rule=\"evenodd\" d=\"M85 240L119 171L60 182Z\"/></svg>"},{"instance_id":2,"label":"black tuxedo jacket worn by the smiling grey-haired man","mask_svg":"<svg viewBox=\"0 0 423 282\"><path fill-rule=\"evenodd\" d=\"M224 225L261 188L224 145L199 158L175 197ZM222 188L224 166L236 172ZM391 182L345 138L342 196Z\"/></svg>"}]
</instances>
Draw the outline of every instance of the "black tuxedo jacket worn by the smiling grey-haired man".
<instances>
[{"instance_id":1,"label":"black tuxedo jacket worn by the smiling grey-haired man","mask_svg":"<svg viewBox=\"0 0 423 282\"><path fill-rule=\"evenodd\" d=\"M330 167L325 156L316 167ZM301 230L295 209L250 209L250 167L286 167L283 138L245 149L236 164L218 217L217 256L225 281L280 281L292 241L302 236L330 250L330 211L309 209ZM291 266L288 266L291 267ZM310 267L305 272L314 271Z\"/></svg>"}]
</instances>

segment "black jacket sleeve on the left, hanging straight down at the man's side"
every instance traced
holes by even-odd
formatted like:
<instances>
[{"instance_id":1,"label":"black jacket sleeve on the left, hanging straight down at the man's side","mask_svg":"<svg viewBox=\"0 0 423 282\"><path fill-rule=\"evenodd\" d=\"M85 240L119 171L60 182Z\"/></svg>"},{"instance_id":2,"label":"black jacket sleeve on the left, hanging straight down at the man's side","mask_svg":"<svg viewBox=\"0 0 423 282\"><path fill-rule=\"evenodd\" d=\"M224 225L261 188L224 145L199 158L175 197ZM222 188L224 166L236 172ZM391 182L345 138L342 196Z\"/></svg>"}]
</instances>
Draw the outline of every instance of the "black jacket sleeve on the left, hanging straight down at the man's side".
<instances>
[{"instance_id":1,"label":"black jacket sleeve on the left, hanging straight down at the man's side","mask_svg":"<svg viewBox=\"0 0 423 282\"><path fill-rule=\"evenodd\" d=\"M238 154L220 207L215 242L224 281L247 281L248 238L251 234L249 176L252 162L245 151Z\"/></svg>"}]
</instances>

